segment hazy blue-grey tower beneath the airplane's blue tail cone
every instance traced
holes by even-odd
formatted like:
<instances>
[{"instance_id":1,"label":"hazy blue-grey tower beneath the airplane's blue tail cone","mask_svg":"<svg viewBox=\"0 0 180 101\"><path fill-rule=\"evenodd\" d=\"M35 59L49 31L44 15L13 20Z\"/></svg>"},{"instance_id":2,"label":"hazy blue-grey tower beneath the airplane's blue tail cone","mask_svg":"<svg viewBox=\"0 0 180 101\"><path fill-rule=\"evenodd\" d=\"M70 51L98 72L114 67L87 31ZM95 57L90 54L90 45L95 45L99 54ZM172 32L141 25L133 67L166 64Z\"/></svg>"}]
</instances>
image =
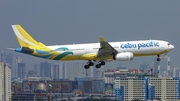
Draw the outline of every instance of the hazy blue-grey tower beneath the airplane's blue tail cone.
<instances>
[{"instance_id":1,"label":"hazy blue-grey tower beneath the airplane's blue tail cone","mask_svg":"<svg viewBox=\"0 0 180 101\"><path fill-rule=\"evenodd\" d=\"M18 78L23 79L26 77L26 65L25 63L18 63L18 70L17 70Z\"/></svg>"}]
</instances>

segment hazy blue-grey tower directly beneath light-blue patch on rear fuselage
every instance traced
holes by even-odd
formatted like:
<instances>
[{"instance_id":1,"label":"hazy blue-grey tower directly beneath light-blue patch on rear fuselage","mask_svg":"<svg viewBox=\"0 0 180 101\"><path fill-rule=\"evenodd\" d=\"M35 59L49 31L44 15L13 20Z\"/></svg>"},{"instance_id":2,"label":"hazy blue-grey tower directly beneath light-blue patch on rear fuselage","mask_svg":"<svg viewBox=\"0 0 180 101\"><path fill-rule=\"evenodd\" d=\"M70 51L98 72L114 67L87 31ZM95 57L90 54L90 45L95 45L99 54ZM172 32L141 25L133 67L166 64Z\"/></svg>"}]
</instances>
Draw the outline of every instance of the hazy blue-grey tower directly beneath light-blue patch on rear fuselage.
<instances>
[{"instance_id":1,"label":"hazy blue-grey tower directly beneath light-blue patch on rear fuselage","mask_svg":"<svg viewBox=\"0 0 180 101\"><path fill-rule=\"evenodd\" d=\"M47 61L40 63L40 76L51 78L51 64Z\"/></svg>"}]
</instances>

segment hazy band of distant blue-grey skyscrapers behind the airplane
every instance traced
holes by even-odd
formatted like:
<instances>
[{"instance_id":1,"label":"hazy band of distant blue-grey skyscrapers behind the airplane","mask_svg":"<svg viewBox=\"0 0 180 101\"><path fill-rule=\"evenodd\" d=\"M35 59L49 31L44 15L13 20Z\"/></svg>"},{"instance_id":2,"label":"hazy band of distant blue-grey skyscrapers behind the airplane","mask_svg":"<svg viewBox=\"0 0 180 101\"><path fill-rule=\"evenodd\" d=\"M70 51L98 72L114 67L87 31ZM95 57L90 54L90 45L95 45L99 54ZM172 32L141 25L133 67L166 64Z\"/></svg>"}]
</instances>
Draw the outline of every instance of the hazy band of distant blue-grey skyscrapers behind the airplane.
<instances>
[{"instance_id":1,"label":"hazy band of distant blue-grey skyscrapers behind the airplane","mask_svg":"<svg viewBox=\"0 0 180 101\"><path fill-rule=\"evenodd\" d=\"M103 78L103 72L108 69L139 69L143 70L144 73L149 71L159 73L162 77L171 76L174 77L174 68L170 65L170 57L164 57L161 62L157 62L156 58L154 58L153 64L149 63L140 63L137 67L126 67L124 65L119 65L118 67L105 68L104 66L100 69L91 66L90 69L86 70L83 68L85 64L84 61L63 61L63 62L55 62L43 60L37 64L32 64L33 67L27 69L26 63L24 63L21 57L15 57L11 53L1 52L1 61L10 64L12 67L12 77L13 78L24 78L27 75L32 75L29 72L33 72L34 76L40 77L50 77L52 79L70 79L73 80L76 77L80 78ZM176 77L179 77L179 70L176 72ZM178 74L177 74L178 73Z\"/></svg>"}]
</instances>

